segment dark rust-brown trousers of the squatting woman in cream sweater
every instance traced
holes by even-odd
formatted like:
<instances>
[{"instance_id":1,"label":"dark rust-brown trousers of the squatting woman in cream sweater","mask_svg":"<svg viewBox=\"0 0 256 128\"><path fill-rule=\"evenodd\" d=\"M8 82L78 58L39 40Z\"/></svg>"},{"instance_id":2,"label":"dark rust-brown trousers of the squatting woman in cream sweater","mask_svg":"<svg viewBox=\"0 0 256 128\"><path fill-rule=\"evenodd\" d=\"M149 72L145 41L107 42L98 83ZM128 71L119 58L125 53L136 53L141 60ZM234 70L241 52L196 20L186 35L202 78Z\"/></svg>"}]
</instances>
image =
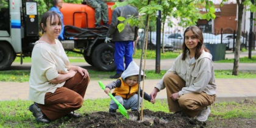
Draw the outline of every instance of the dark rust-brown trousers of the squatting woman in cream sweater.
<instances>
[{"instance_id":1,"label":"dark rust-brown trousers of the squatting woman in cream sweater","mask_svg":"<svg viewBox=\"0 0 256 128\"><path fill-rule=\"evenodd\" d=\"M83 79L80 73L76 73L73 78L66 80L63 87L57 88L54 93L46 93L44 104L38 104L38 106L51 121L62 118L69 112L82 107L89 82L89 76Z\"/></svg>"}]
</instances>

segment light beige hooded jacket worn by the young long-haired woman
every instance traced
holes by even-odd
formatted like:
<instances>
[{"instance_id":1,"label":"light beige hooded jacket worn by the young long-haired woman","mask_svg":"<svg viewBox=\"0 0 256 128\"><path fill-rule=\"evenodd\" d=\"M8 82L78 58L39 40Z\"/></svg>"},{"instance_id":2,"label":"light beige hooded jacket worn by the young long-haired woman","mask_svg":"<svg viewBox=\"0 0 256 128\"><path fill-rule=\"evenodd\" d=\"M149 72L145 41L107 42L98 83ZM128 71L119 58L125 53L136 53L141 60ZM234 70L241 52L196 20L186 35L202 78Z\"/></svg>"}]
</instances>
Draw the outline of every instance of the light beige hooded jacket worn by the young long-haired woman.
<instances>
[{"instance_id":1,"label":"light beige hooded jacket worn by the young long-haired woman","mask_svg":"<svg viewBox=\"0 0 256 128\"><path fill-rule=\"evenodd\" d=\"M199 59L190 65L187 58L182 60L182 54L177 57L172 67L165 73L174 73L185 80L186 85L179 91L179 95L186 93L202 93L204 91L208 95L216 94L215 74L212 63L212 55L203 51ZM163 78L157 83L156 88L163 90Z\"/></svg>"}]
</instances>

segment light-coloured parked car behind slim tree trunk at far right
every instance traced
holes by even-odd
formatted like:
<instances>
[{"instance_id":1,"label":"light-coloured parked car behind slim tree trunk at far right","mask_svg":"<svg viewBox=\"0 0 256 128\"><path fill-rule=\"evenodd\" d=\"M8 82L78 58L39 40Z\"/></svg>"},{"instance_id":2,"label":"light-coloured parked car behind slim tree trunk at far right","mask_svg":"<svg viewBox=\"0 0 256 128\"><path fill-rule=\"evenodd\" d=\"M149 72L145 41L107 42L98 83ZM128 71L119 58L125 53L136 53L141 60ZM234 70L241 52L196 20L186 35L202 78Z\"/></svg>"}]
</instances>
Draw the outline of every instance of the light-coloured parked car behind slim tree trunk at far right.
<instances>
[{"instance_id":1,"label":"light-coloured parked car behind slim tree trunk at far right","mask_svg":"<svg viewBox=\"0 0 256 128\"><path fill-rule=\"evenodd\" d=\"M221 38L221 34L216 35L217 38ZM233 49L233 39L236 38L233 37L233 34L222 34L222 43L227 45L227 49ZM235 43L236 43L236 39L235 39ZM241 36L240 38L240 49L244 48L245 46L245 38L243 36Z\"/></svg>"}]
</instances>

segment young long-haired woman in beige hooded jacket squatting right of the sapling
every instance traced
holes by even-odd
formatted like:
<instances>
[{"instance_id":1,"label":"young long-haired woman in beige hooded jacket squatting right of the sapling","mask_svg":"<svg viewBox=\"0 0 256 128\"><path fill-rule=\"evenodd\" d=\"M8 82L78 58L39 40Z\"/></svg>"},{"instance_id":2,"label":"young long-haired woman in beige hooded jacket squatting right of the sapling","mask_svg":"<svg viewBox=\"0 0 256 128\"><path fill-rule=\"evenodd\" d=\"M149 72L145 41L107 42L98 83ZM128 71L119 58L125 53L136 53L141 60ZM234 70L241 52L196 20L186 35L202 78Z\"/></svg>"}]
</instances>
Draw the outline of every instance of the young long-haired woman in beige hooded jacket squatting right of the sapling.
<instances>
[{"instance_id":1,"label":"young long-haired woman in beige hooded jacket squatting right of the sapling","mask_svg":"<svg viewBox=\"0 0 256 128\"><path fill-rule=\"evenodd\" d=\"M209 105L216 98L212 55L203 45L202 31L190 26L184 32L182 54L155 86L151 98L166 88L169 112L185 113L199 121L207 121Z\"/></svg>"}]
</instances>

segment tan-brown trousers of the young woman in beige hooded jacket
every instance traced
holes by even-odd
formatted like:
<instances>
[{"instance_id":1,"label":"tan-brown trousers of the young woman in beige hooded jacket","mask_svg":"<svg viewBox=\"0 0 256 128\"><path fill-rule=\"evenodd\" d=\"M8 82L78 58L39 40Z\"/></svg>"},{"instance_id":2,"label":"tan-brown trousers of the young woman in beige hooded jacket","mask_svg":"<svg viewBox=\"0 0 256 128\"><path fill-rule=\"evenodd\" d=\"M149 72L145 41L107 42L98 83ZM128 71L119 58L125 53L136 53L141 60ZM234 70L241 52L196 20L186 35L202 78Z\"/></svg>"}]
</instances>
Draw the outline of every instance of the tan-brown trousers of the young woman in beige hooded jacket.
<instances>
[{"instance_id":1,"label":"tan-brown trousers of the young woman in beige hooded jacket","mask_svg":"<svg viewBox=\"0 0 256 128\"><path fill-rule=\"evenodd\" d=\"M202 93L187 93L180 96L176 101L171 99L171 94L177 93L185 87L186 83L177 74L166 74L163 82L166 87L169 112L183 111L188 117L195 117L201 110L208 105L213 104L216 94L208 95Z\"/></svg>"}]
</instances>

